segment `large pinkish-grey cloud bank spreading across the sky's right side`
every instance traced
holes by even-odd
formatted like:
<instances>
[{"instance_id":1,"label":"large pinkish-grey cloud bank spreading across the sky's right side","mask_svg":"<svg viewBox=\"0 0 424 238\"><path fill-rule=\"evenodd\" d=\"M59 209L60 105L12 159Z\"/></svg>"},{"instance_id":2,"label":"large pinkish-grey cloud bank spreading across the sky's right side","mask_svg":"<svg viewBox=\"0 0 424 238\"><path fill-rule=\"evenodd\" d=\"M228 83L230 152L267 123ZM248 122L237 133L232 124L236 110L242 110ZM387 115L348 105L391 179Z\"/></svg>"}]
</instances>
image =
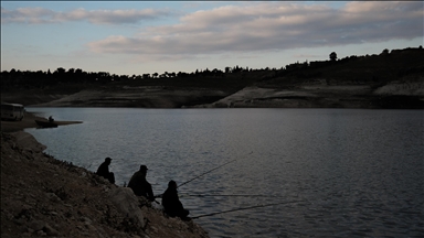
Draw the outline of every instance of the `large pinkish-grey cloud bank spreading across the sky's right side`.
<instances>
[{"instance_id":1,"label":"large pinkish-grey cloud bank spreading across the sky's right side","mask_svg":"<svg viewBox=\"0 0 424 238\"><path fill-rule=\"evenodd\" d=\"M177 24L109 36L87 46L98 53L220 54L361 44L423 36L422 2L326 4L262 2L197 11Z\"/></svg>"}]
</instances>

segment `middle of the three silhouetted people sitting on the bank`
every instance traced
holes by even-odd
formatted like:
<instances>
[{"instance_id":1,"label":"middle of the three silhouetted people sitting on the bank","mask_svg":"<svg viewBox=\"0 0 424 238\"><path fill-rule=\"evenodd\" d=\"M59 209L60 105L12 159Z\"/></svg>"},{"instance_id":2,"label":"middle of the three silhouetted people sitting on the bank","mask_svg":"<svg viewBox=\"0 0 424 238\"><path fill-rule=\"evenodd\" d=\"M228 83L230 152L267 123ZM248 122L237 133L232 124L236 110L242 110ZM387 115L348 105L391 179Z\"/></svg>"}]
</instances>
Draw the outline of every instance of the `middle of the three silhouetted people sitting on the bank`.
<instances>
[{"instance_id":1,"label":"middle of the three silhouetted people sitting on the bank","mask_svg":"<svg viewBox=\"0 0 424 238\"><path fill-rule=\"evenodd\" d=\"M144 196L150 202L155 201L153 191L151 185L146 180L147 166L140 165L140 170L134 173L131 180L129 180L128 187L130 187L137 196Z\"/></svg>"}]
</instances>

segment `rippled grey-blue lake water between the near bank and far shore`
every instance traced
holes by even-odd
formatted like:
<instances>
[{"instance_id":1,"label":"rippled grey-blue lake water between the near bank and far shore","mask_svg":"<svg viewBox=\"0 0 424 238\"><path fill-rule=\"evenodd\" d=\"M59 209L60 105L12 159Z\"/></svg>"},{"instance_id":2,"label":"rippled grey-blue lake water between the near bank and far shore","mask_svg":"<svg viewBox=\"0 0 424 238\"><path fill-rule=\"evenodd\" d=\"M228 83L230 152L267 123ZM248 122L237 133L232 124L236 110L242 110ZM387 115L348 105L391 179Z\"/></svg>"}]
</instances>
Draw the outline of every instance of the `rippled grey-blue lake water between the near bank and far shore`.
<instances>
[{"instance_id":1,"label":"rippled grey-blue lake water between the near bank and far shore","mask_svg":"<svg viewBox=\"0 0 424 238\"><path fill-rule=\"evenodd\" d=\"M235 160L179 188L191 216L284 203L195 219L211 237L424 236L423 110L28 111L84 121L28 129L46 153L91 171L110 156L118 185L146 164L155 194Z\"/></svg>"}]
</instances>

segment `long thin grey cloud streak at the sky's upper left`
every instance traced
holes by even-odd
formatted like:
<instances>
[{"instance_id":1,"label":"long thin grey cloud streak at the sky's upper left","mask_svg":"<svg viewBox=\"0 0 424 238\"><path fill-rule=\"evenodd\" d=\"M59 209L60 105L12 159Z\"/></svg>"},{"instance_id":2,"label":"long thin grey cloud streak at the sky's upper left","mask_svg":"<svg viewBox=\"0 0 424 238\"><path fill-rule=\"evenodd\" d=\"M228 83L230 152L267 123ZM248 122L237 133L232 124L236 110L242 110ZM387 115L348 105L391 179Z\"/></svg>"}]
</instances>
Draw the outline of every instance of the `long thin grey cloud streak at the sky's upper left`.
<instances>
[{"instance_id":1,"label":"long thin grey cloud streak at the sky's upper left","mask_svg":"<svg viewBox=\"0 0 424 238\"><path fill-rule=\"evenodd\" d=\"M67 12L57 12L43 8L19 8L7 10L1 8L1 23L63 23L71 21L88 21L93 24L137 23L172 14L166 10L85 10L83 8Z\"/></svg>"}]
</instances>

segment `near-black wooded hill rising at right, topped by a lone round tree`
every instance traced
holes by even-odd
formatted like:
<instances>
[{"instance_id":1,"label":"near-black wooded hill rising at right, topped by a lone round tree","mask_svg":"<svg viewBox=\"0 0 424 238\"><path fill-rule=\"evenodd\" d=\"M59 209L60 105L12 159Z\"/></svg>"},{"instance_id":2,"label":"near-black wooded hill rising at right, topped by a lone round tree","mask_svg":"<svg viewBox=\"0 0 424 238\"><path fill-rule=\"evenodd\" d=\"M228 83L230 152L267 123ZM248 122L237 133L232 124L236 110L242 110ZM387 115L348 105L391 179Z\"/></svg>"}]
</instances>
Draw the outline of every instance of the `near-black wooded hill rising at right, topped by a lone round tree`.
<instances>
[{"instance_id":1,"label":"near-black wooded hill rising at right, topped by a lone round tree","mask_svg":"<svg viewBox=\"0 0 424 238\"><path fill-rule=\"evenodd\" d=\"M335 53L335 52L333 52ZM290 64L285 69L261 82L264 87L285 87L325 79L327 85L371 85L382 86L407 75L424 75L424 50L417 48L384 50L379 55L351 55L340 60L305 62ZM336 54L336 53L335 53Z\"/></svg>"}]
</instances>

